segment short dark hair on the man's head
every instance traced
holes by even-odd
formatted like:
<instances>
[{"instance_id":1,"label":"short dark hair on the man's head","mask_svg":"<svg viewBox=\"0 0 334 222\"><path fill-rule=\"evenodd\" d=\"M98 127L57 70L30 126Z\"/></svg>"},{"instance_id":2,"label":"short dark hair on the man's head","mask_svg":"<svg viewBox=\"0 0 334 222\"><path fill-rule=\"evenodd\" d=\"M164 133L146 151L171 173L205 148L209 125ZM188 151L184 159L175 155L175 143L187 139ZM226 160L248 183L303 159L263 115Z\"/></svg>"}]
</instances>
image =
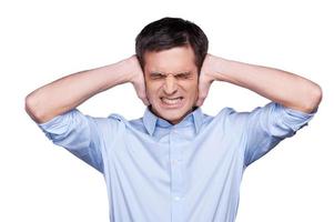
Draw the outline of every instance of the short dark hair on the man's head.
<instances>
[{"instance_id":1,"label":"short dark hair on the man's head","mask_svg":"<svg viewBox=\"0 0 334 222\"><path fill-rule=\"evenodd\" d=\"M191 46L200 72L208 53L209 41L202 29L181 18L163 18L145 26L135 38L135 53L144 68L144 53L162 51L174 47Z\"/></svg>"}]
</instances>

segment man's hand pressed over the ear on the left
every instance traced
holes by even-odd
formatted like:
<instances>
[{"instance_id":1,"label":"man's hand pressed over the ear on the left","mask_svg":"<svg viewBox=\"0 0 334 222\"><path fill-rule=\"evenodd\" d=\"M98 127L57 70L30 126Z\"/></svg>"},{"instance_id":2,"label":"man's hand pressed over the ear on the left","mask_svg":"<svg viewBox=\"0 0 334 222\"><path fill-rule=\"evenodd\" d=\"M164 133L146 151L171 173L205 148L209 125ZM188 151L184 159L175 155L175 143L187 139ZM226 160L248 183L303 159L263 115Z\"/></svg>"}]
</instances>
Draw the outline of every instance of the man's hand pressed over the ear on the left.
<instances>
[{"instance_id":1,"label":"man's hand pressed over the ear on the left","mask_svg":"<svg viewBox=\"0 0 334 222\"><path fill-rule=\"evenodd\" d=\"M145 105L149 105L150 102L146 98L144 73L136 59L136 56L133 54L132 57L126 59L126 62L129 62L128 65L130 68L130 72L131 72L131 78L129 81L133 84L139 99L141 99Z\"/></svg>"}]
</instances>

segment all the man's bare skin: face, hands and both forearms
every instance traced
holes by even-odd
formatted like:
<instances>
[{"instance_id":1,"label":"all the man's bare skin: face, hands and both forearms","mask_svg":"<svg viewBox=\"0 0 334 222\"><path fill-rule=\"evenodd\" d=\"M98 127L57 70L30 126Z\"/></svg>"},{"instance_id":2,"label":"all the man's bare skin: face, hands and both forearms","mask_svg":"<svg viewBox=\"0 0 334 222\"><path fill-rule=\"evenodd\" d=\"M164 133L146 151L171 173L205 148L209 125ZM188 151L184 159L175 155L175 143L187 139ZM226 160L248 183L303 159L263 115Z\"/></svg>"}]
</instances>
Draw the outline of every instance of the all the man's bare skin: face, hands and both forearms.
<instances>
[{"instance_id":1,"label":"all the man's bare skin: face, hands and both forearms","mask_svg":"<svg viewBox=\"0 0 334 222\"><path fill-rule=\"evenodd\" d=\"M145 105L151 104L156 115L172 124L179 123L194 107L203 104L213 81L246 88L286 108L306 113L313 112L322 100L321 88L305 78L209 53L199 78L194 54L189 47L146 52L144 59L144 73L136 56L132 56L50 82L26 97L26 111L37 123L44 123L91 97L126 82L133 84ZM182 102L175 105L162 101L174 98L182 98Z\"/></svg>"}]
</instances>

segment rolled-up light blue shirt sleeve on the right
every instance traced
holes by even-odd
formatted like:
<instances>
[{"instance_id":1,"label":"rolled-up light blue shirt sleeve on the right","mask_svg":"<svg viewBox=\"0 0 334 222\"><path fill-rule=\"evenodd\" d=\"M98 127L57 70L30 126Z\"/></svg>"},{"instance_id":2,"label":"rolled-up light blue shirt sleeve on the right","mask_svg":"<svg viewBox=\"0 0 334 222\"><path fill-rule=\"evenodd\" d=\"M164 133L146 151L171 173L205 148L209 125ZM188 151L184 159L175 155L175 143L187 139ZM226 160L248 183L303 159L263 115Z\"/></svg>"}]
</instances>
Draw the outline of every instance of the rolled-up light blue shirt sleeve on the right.
<instances>
[{"instance_id":1,"label":"rolled-up light blue shirt sleeve on the right","mask_svg":"<svg viewBox=\"0 0 334 222\"><path fill-rule=\"evenodd\" d=\"M245 125L245 165L250 165L280 141L290 138L307 125L316 111L304 113L271 102L247 114Z\"/></svg>"}]
</instances>

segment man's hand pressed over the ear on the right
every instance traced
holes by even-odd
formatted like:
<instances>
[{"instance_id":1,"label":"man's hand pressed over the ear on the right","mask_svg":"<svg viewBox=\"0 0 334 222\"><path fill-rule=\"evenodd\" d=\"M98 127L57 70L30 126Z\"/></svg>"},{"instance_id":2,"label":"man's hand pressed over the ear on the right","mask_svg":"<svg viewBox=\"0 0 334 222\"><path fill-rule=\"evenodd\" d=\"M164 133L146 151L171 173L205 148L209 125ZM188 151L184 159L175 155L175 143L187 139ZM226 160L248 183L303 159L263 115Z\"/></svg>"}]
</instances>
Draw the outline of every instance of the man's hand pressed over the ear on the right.
<instances>
[{"instance_id":1,"label":"man's hand pressed over the ear on the right","mask_svg":"<svg viewBox=\"0 0 334 222\"><path fill-rule=\"evenodd\" d=\"M209 94L209 89L214 80L217 80L219 58L212 54L206 54L200 72L199 80L199 99L196 105L201 107Z\"/></svg>"}]
</instances>

